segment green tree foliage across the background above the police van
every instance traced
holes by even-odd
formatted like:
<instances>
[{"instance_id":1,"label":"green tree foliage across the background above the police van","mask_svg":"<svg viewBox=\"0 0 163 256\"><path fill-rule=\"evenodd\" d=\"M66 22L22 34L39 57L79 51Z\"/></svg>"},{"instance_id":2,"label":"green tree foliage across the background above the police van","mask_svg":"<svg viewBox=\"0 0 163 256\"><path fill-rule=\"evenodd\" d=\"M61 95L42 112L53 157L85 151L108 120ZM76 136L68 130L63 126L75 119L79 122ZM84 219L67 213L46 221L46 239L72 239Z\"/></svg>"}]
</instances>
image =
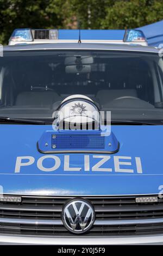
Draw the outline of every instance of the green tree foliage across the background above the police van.
<instances>
[{"instance_id":1,"label":"green tree foliage across the background above the police van","mask_svg":"<svg viewBox=\"0 0 163 256\"><path fill-rule=\"evenodd\" d=\"M136 28L163 19L162 0L0 0L0 43L15 28Z\"/></svg>"}]
</instances>

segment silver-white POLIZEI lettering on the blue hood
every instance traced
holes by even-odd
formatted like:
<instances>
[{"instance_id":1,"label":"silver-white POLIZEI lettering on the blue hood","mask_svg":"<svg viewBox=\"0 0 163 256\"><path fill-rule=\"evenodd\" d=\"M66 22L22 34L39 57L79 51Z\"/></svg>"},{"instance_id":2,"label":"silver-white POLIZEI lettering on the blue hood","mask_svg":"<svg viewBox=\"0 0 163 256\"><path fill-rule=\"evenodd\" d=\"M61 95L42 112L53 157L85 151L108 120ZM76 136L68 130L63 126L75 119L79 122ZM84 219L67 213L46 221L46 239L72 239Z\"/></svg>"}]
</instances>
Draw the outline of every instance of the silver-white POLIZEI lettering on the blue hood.
<instances>
[{"instance_id":1,"label":"silver-white POLIZEI lettering on the blue hood","mask_svg":"<svg viewBox=\"0 0 163 256\"><path fill-rule=\"evenodd\" d=\"M74 159L72 155L65 155L63 158L57 155L44 155L39 159L35 159L33 156L18 156L15 173L31 170L34 164L41 172L61 170L64 173L83 171L85 173L143 173L140 157L110 155L84 155L78 159Z\"/></svg>"}]
</instances>

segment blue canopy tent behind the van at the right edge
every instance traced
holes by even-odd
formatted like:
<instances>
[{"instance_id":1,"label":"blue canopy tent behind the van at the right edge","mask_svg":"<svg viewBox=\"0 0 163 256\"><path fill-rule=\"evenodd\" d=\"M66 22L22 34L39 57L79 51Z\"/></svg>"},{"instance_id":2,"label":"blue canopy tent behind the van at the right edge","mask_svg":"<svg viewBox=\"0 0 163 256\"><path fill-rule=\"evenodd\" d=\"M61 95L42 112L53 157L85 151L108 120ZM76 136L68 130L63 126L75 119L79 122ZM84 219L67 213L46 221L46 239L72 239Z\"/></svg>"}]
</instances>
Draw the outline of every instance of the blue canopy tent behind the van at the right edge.
<instances>
[{"instance_id":1,"label":"blue canopy tent behind the van at the right edge","mask_svg":"<svg viewBox=\"0 0 163 256\"><path fill-rule=\"evenodd\" d=\"M140 29L145 34L148 45L158 47L163 44L163 20L137 29Z\"/></svg>"}]
</instances>

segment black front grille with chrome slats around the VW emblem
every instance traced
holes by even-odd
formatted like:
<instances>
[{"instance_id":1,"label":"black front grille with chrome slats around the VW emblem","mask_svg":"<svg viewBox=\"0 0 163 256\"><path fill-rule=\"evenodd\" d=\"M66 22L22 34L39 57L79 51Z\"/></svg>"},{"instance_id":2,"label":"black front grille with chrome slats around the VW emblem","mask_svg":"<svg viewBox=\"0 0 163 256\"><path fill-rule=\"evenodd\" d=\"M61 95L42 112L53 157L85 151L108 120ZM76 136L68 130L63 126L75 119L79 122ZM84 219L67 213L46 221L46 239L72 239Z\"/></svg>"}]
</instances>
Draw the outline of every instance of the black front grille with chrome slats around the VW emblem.
<instances>
[{"instance_id":1,"label":"black front grille with chrome slats around the VW emblem","mask_svg":"<svg viewBox=\"0 0 163 256\"><path fill-rule=\"evenodd\" d=\"M0 233L75 236L61 222L62 207L73 198L77 197L22 196L21 203L0 202ZM163 199L140 204L135 196L82 198L89 200L96 212L95 224L82 236L163 232Z\"/></svg>"}]
</instances>

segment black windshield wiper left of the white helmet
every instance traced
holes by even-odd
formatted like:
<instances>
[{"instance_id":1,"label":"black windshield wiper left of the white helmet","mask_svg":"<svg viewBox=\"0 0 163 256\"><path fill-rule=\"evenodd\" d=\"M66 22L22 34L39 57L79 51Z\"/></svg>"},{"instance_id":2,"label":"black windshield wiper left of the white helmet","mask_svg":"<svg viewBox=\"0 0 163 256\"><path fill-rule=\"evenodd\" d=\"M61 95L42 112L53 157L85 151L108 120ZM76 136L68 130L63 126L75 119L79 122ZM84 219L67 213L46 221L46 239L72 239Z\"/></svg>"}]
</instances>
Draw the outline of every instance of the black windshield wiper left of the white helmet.
<instances>
[{"instance_id":1,"label":"black windshield wiper left of the white helmet","mask_svg":"<svg viewBox=\"0 0 163 256\"><path fill-rule=\"evenodd\" d=\"M35 124L35 125L46 125L52 124L47 123L42 120L32 120L32 119L23 119L23 118L9 118L9 117L0 117L0 123L18 123L18 124Z\"/></svg>"}]
</instances>

